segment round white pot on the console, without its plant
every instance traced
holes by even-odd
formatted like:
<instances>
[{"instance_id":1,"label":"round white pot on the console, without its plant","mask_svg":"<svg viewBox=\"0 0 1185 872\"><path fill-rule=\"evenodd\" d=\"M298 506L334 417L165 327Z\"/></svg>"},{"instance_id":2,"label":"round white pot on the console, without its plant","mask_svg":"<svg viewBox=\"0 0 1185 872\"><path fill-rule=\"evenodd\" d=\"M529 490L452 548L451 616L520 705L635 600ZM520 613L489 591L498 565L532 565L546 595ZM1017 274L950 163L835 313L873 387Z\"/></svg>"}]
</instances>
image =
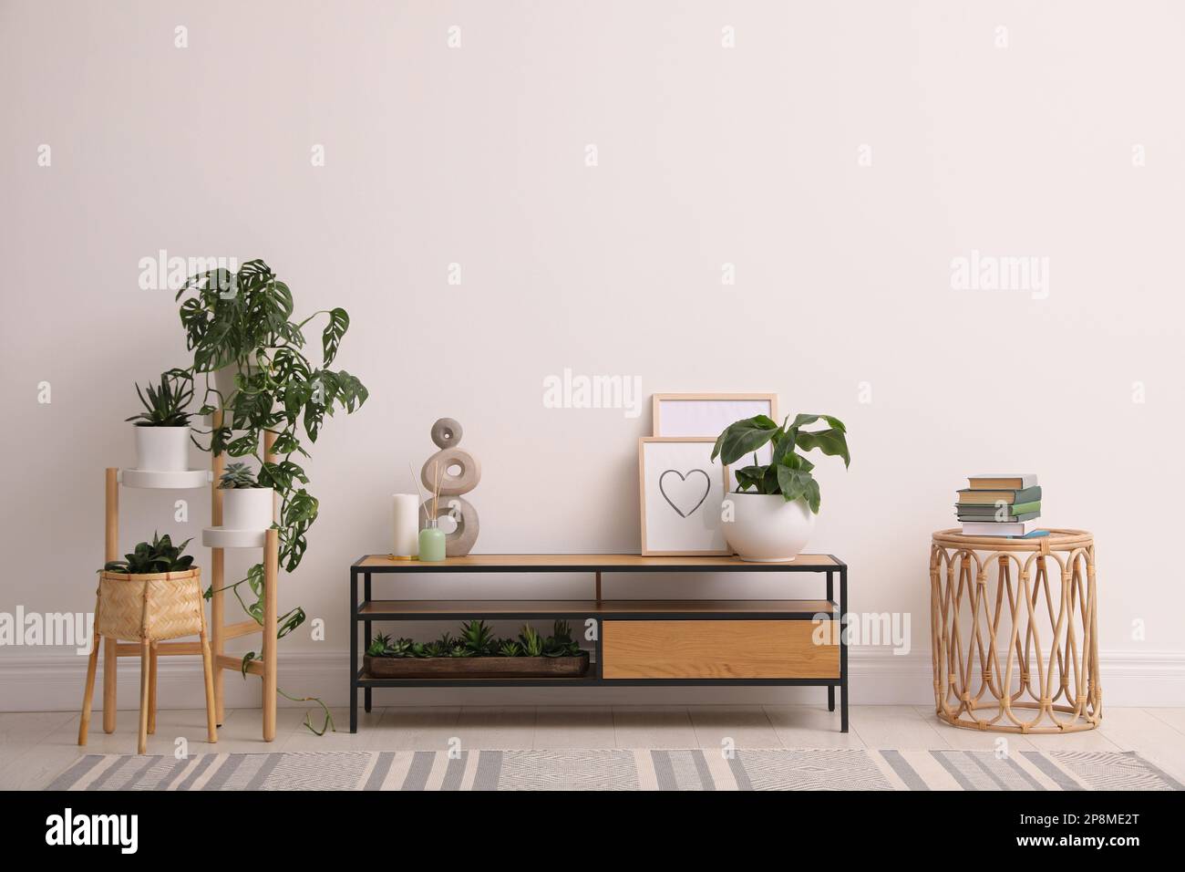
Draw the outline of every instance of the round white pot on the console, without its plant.
<instances>
[{"instance_id":1,"label":"round white pot on the console, without its plant","mask_svg":"<svg viewBox=\"0 0 1185 872\"><path fill-rule=\"evenodd\" d=\"M724 539L742 560L780 564L807 547L815 516L806 501L788 503L781 494L729 494L725 499L732 502L732 520L723 523Z\"/></svg>"}]
</instances>

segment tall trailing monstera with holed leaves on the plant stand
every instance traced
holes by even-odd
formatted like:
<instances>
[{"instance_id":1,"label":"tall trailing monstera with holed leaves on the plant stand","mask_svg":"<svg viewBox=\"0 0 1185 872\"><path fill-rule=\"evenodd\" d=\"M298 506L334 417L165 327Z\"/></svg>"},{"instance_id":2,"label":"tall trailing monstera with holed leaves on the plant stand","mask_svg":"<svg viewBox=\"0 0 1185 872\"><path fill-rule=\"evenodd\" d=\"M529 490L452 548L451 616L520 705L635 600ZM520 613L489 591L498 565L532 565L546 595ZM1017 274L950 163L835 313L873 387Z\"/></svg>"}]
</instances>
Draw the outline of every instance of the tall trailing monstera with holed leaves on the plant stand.
<instances>
[{"instance_id":1,"label":"tall trailing monstera with holed leaves on the plant stand","mask_svg":"<svg viewBox=\"0 0 1185 872\"><path fill-rule=\"evenodd\" d=\"M211 429L204 431L209 444L201 447L214 454L255 458L257 486L274 488L280 496L280 562L293 572L308 548L306 536L318 514L300 462L309 457L308 446L327 418L337 410L352 413L367 397L356 376L331 368L350 329L350 316L344 308L329 308L293 320L292 291L262 260L249 261L237 272L198 273L181 286L177 300L193 352L188 371L196 381L204 381L198 414L214 415ZM314 363L306 330L322 318L320 359ZM261 456L264 441L270 451ZM250 597L244 598L243 585ZM255 564L228 587L262 624L263 564ZM303 609L290 610L281 616L277 636L287 636L303 622ZM257 656L248 653L244 669Z\"/></svg>"}]
</instances>

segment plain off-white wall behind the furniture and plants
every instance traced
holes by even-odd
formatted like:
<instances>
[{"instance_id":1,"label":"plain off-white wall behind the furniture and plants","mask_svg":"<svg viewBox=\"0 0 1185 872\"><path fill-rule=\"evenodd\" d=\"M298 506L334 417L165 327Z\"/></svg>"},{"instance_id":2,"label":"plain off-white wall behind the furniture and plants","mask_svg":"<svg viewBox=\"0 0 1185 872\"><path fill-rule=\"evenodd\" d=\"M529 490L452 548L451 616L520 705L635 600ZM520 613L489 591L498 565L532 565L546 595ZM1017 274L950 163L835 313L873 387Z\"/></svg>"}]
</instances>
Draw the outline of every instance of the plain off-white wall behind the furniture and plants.
<instances>
[{"instance_id":1,"label":"plain off-white wall behind the furniture and plants","mask_svg":"<svg viewBox=\"0 0 1185 872\"><path fill-rule=\"evenodd\" d=\"M1104 669L1181 694L1183 24L1172 2L2 2L0 611L91 607L133 381L186 359L172 293L137 287L165 249L264 257L300 313L352 316L339 363L371 400L315 446L321 518L281 593L328 629L281 658L337 669L339 699L347 566L387 547L436 418L482 463L479 550L639 548L648 408L544 408L564 368L640 376L647 399L773 388L847 422L812 548L848 561L853 609L912 616L910 668L877 661L897 683L869 698L930 694L929 535L987 470L1039 472L1043 520L1096 534ZM1048 257L1048 298L953 289L973 249ZM200 539L207 495L187 524L178 496L124 492L121 545ZM46 686L26 669L81 667L59 654L0 649L2 706ZM76 673L53 674L76 705Z\"/></svg>"}]
</instances>

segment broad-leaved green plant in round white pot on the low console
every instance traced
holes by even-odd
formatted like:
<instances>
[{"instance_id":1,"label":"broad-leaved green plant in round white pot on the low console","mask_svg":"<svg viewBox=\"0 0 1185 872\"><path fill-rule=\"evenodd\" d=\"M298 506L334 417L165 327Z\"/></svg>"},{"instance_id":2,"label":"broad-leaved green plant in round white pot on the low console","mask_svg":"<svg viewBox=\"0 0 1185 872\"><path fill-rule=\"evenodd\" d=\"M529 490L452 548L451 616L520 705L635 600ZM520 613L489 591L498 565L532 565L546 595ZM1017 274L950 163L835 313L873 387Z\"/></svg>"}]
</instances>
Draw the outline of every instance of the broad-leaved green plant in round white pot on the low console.
<instances>
[{"instance_id":1,"label":"broad-leaved green plant in round white pot on the low console","mask_svg":"<svg viewBox=\"0 0 1185 872\"><path fill-rule=\"evenodd\" d=\"M732 466L754 452L750 466L735 467L735 494L724 498L724 539L742 560L783 562L794 560L806 547L819 514L819 483L811 475L814 464L798 448L819 448L824 454L851 462L846 428L831 415L787 416L782 425L767 415L730 424L712 448L712 460L719 457ZM802 427L824 421L826 429ZM773 445L768 464L757 463L756 451Z\"/></svg>"}]
</instances>

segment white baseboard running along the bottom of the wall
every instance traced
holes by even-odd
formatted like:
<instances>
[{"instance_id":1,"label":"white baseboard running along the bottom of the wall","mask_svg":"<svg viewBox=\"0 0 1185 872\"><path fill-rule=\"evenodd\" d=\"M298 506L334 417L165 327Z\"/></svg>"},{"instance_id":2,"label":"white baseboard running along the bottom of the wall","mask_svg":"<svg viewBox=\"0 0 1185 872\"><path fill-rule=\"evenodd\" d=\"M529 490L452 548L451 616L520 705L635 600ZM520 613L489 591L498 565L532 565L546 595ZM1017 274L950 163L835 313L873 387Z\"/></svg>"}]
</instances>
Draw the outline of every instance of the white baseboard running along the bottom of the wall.
<instances>
[{"instance_id":1,"label":"white baseboard running along the bottom of the wall","mask_svg":"<svg viewBox=\"0 0 1185 872\"><path fill-rule=\"evenodd\" d=\"M1102 664L1104 706L1185 706L1185 651L1109 651ZM280 687L294 696L320 696L348 705L346 651L292 651L280 655ZM204 705L197 657L161 657L158 700L161 708ZM72 711L82 706L87 658L75 654L0 656L0 711ZM140 660L120 658L120 708L139 705ZM848 654L851 705L934 702L928 651L896 655L884 648L852 648ZM260 705L260 680L225 673L226 705ZM102 700L102 674L96 707ZM376 705L779 705L819 702L816 687L568 687L568 688L414 688L376 689ZM296 706L281 698L280 705ZM1106 711L1106 708L1104 708Z\"/></svg>"}]
</instances>

